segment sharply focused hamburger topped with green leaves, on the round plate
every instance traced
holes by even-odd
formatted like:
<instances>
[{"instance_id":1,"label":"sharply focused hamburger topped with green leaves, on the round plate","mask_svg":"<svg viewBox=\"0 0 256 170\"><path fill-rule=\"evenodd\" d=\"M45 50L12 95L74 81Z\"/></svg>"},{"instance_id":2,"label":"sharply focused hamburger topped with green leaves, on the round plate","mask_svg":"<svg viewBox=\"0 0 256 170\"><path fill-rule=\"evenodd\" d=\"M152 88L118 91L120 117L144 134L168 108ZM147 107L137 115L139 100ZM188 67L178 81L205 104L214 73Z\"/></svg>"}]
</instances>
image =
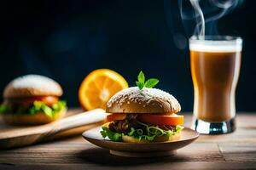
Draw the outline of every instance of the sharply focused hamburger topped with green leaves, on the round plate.
<instances>
[{"instance_id":1,"label":"sharply focused hamburger topped with green leaves, on the round plate","mask_svg":"<svg viewBox=\"0 0 256 170\"><path fill-rule=\"evenodd\" d=\"M177 115L181 111L177 99L153 88L157 79L145 82L140 75L137 87L125 88L109 99L102 137L137 144L178 140L183 116Z\"/></svg>"}]
</instances>

